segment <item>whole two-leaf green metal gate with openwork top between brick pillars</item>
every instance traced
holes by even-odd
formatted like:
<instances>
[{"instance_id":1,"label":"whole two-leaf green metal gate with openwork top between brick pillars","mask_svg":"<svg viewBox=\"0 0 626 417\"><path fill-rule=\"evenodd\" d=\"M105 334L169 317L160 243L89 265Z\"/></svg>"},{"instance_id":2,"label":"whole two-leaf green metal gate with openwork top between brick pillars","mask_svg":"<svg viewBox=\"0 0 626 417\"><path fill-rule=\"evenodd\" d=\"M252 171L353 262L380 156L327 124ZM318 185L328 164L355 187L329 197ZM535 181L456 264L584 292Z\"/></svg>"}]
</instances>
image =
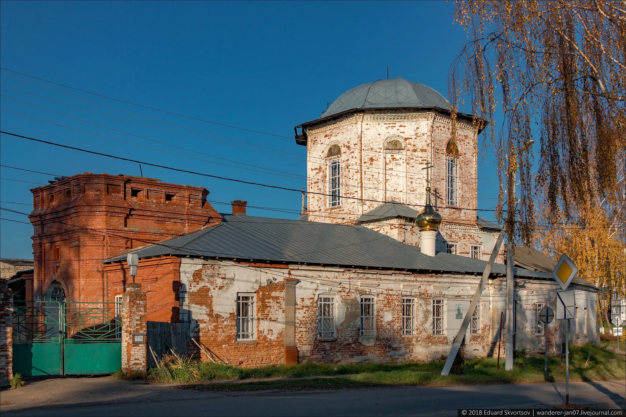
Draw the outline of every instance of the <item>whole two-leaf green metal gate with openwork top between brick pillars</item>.
<instances>
[{"instance_id":1,"label":"whole two-leaf green metal gate with openwork top between brick pillars","mask_svg":"<svg viewBox=\"0 0 626 417\"><path fill-rule=\"evenodd\" d=\"M121 304L16 301L13 371L113 373L121 368Z\"/></svg>"}]
</instances>

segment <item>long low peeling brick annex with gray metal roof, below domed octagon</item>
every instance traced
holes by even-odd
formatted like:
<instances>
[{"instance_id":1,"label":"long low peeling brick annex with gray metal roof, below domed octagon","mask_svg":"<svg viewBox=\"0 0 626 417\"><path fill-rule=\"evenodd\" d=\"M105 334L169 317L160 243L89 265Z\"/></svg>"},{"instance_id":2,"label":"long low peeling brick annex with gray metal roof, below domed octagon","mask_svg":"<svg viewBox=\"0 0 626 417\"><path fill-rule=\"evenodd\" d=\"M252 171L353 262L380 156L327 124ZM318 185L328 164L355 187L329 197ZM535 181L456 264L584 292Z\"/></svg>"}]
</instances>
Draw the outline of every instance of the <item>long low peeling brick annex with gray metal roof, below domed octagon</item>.
<instances>
[{"instance_id":1,"label":"long low peeling brick annex with gray metal roof, below domed octagon","mask_svg":"<svg viewBox=\"0 0 626 417\"><path fill-rule=\"evenodd\" d=\"M364 226L245 214L224 215L218 226L134 253L142 286L179 264L178 304L148 309L178 309L213 359L245 366L438 359L448 354L486 265L448 253L428 256ZM125 259L106 261L111 281L127 277ZM496 349L504 274L505 266L495 264L473 314L471 356ZM515 276L518 347L541 350L538 310L553 306L558 286L541 271L515 268ZM595 340L596 289L582 280L572 287L585 311L574 320L575 338ZM548 349L560 352L562 329L548 329Z\"/></svg>"}]
</instances>

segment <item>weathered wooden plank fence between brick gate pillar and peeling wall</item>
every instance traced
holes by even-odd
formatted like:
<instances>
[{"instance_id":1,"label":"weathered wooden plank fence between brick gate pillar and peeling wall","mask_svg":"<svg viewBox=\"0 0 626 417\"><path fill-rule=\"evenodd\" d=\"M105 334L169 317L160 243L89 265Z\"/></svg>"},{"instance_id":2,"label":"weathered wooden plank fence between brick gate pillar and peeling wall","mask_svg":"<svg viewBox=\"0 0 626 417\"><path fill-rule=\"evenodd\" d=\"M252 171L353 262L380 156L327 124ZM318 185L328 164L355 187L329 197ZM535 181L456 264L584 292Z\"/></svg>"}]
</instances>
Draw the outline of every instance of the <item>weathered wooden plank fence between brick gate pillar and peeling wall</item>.
<instances>
[{"instance_id":1,"label":"weathered wooden plank fence between brick gate pillar and peeling wall","mask_svg":"<svg viewBox=\"0 0 626 417\"><path fill-rule=\"evenodd\" d=\"M154 358L150 353L150 348L160 361L164 354L172 354L170 349L176 354L187 358L187 323L167 323L162 321L148 321L146 341L148 343L148 367L156 366Z\"/></svg>"}]
</instances>

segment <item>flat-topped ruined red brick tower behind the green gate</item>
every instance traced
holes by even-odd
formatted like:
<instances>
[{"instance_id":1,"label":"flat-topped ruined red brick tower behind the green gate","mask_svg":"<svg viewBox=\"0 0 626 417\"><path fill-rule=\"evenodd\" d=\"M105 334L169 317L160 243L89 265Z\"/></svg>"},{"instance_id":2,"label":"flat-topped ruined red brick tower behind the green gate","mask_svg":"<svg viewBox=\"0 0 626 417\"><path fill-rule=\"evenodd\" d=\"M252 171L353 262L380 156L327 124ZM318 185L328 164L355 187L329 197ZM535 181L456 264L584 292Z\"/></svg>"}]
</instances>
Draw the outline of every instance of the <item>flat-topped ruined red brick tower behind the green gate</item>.
<instances>
[{"instance_id":1,"label":"flat-topped ruined red brick tower behind the green gate","mask_svg":"<svg viewBox=\"0 0 626 417\"><path fill-rule=\"evenodd\" d=\"M221 220L207 189L153 178L84 173L31 191L34 298L113 301L103 259Z\"/></svg>"}]
</instances>

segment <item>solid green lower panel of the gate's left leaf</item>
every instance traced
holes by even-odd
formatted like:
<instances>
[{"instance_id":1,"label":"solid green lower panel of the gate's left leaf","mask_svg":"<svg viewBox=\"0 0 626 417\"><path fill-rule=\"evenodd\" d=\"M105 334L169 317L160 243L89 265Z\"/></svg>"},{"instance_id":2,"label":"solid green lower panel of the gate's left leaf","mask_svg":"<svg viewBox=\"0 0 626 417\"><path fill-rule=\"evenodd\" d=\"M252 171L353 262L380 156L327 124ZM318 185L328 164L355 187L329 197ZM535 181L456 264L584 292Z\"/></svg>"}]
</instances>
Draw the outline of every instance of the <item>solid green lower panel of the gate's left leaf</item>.
<instances>
[{"instance_id":1,"label":"solid green lower panel of the gate's left leaf","mask_svg":"<svg viewBox=\"0 0 626 417\"><path fill-rule=\"evenodd\" d=\"M61 343L14 343L13 373L27 376L60 374Z\"/></svg>"}]
</instances>

